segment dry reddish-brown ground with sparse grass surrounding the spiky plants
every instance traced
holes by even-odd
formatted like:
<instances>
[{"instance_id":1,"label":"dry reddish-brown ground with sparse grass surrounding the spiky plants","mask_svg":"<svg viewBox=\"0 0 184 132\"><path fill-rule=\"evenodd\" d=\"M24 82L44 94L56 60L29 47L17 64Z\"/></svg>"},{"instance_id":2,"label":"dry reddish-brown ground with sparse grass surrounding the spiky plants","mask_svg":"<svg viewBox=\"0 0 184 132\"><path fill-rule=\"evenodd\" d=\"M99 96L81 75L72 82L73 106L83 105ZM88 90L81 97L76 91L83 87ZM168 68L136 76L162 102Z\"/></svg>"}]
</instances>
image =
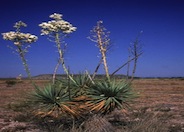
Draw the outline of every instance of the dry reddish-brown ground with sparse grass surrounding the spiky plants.
<instances>
[{"instance_id":1,"label":"dry reddish-brown ground with sparse grass surrounding the spiky plants","mask_svg":"<svg viewBox=\"0 0 184 132\"><path fill-rule=\"evenodd\" d=\"M90 125L89 127L89 123L94 120L101 120L101 123L96 122L99 126L103 123L108 124L109 126L106 125L106 129L109 128L114 132L138 132L138 130L179 132L184 129L182 124L184 122L184 81L180 79L136 79L132 86L136 91L140 92L139 98L130 103L131 107L129 109L115 110L105 116L88 114L85 118L76 120L73 120L71 116L70 118L34 116L31 110L32 106L22 96L22 93L30 93L34 90L32 84L25 80L23 84L16 84L13 89L4 89L3 86L6 87L5 81L0 80L0 82L0 128L2 128L0 130L3 130L3 128L6 128L6 131L16 130L12 127L18 126L20 128L19 131L22 129L24 131L83 132L85 130L97 130L98 126L93 125L96 128L91 128ZM49 82L51 81L35 80L35 83L40 87ZM26 86L27 89L22 89L22 85ZM163 111L162 109L165 107L170 108L170 111ZM16 124L13 125L14 123ZM22 128L19 127L21 125L23 125Z\"/></svg>"}]
</instances>

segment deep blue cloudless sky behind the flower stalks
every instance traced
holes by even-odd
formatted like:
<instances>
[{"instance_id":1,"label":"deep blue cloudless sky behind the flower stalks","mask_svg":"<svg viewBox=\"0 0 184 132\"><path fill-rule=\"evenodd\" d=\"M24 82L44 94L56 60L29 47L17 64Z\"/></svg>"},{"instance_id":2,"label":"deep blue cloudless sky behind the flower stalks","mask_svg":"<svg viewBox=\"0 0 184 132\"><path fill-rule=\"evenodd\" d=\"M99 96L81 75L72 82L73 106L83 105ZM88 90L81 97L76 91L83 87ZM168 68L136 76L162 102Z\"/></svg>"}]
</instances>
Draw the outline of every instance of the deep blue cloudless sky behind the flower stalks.
<instances>
[{"instance_id":1,"label":"deep blue cloudless sky behind the flower stalks","mask_svg":"<svg viewBox=\"0 0 184 132\"><path fill-rule=\"evenodd\" d=\"M53 13L77 27L65 41L68 44L66 65L72 73L93 73L99 58L95 43L87 37L96 22L103 20L111 32L113 47L108 54L112 73L127 61L128 46L140 31L144 54L139 58L136 76L184 76L184 1L182 0L1 0L0 32L13 30L22 20L28 27L22 32L38 36L26 57L32 75L52 74L57 63L54 43L40 36L38 24L48 21ZM20 58L12 54L10 41L0 38L0 77L26 76ZM63 73L60 67L58 73ZM101 67L99 73L104 73ZM126 73L126 68L120 74Z\"/></svg>"}]
</instances>

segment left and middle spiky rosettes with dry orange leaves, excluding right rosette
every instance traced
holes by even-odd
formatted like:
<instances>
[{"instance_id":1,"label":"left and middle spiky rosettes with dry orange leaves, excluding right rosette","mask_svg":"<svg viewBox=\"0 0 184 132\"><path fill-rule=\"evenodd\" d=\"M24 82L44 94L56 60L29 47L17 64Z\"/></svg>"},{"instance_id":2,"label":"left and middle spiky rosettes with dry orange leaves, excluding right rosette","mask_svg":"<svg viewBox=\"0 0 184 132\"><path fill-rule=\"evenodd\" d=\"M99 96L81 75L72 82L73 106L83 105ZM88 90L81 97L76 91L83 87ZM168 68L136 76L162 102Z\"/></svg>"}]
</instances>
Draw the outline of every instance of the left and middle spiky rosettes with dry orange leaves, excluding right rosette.
<instances>
[{"instance_id":1,"label":"left and middle spiky rosettes with dry orange leaves, excluding right rosette","mask_svg":"<svg viewBox=\"0 0 184 132\"><path fill-rule=\"evenodd\" d=\"M80 74L69 79L56 80L55 84L40 88L36 85L35 90L29 97L30 105L35 107L35 115L41 117L72 116L74 118L87 114L89 110L85 105L87 89L92 85L87 74Z\"/></svg>"}]
</instances>

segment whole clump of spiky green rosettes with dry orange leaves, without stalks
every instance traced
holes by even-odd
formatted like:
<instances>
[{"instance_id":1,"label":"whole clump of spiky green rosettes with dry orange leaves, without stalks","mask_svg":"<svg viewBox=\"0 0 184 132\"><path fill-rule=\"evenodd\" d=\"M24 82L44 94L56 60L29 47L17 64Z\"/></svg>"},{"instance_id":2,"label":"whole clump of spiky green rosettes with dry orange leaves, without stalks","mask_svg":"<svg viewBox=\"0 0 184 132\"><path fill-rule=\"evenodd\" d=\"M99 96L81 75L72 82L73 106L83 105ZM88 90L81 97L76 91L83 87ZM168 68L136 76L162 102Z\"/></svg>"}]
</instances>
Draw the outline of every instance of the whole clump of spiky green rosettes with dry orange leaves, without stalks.
<instances>
[{"instance_id":1,"label":"whole clump of spiky green rosettes with dry orange leaves, without stalks","mask_svg":"<svg viewBox=\"0 0 184 132\"><path fill-rule=\"evenodd\" d=\"M135 97L126 81L92 81L87 74L76 76L73 80L75 83L60 80L44 88L35 85L30 98L35 115L74 118L90 113L104 115L116 108L129 107L129 101Z\"/></svg>"}]
</instances>

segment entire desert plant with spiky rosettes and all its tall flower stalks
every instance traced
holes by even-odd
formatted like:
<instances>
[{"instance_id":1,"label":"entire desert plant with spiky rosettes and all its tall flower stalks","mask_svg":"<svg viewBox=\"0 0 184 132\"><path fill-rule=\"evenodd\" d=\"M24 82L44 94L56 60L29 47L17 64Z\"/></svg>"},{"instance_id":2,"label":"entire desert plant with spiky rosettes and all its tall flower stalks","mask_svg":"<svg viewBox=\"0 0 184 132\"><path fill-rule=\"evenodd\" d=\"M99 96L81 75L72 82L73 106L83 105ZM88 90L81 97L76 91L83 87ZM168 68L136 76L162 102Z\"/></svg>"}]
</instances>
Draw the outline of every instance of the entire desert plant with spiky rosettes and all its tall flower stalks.
<instances>
[{"instance_id":1,"label":"entire desert plant with spiky rosettes and all its tall flower stalks","mask_svg":"<svg viewBox=\"0 0 184 132\"><path fill-rule=\"evenodd\" d=\"M33 114L36 117L41 117L41 122L44 122L44 125L48 125L48 131L60 131L65 128L63 125L67 124L60 124L63 119L64 121L69 121L71 124L71 121L74 121L76 118L79 119L79 117L83 117L82 119L85 120L85 128L78 129L74 126L72 130L84 130L90 132L114 131L111 124L101 116L111 113L116 108L124 109L129 107L129 101L135 95L132 92L130 84L134 78L137 60L142 54L138 40L139 36L129 47L128 61L123 63L117 70L110 74L107 63L107 53L111 47L109 38L110 32L103 26L103 21L98 21L97 25L91 30L91 37L89 37L89 39L95 42L96 46L99 48L99 53L101 55L100 61L92 77L88 72L81 73L78 76L72 76L69 67L65 64L64 53L67 44L63 40L67 38L70 33L76 31L77 28L63 20L61 14L54 13L49 17L52 19L51 21L42 22L39 26L41 27L41 35L46 35L51 42L55 42L59 53L58 62L54 69L52 84L46 85L45 87L39 87L36 86L32 80L35 89L28 97L28 106L25 106L32 109ZM19 21L14 26L16 32L7 32L2 35L5 40L13 41L14 46L16 47L15 51L19 54L25 67L25 71L28 74L29 79L31 79L31 73L25 59L25 54L29 46L24 44L33 43L37 41L38 38L29 33L21 33L20 28L26 26L25 23ZM129 69L130 62L132 61L134 61L134 65L130 79ZM95 80L95 76L101 64L103 64L105 70L105 77L103 77L103 79L106 80L97 81ZM56 73L60 65L62 65L63 70L68 77L65 80L56 80ZM112 78L114 78L113 75L126 65L128 66L127 81L112 80ZM14 84L16 84L15 81L7 82L8 86ZM19 107L15 106L14 108L18 109ZM96 114L100 116L96 116ZM89 115L93 115L93 117L86 119L85 117ZM19 120L22 120L21 116ZM50 123L48 124L46 122ZM53 126L55 126L54 130Z\"/></svg>"}]
</instances>

